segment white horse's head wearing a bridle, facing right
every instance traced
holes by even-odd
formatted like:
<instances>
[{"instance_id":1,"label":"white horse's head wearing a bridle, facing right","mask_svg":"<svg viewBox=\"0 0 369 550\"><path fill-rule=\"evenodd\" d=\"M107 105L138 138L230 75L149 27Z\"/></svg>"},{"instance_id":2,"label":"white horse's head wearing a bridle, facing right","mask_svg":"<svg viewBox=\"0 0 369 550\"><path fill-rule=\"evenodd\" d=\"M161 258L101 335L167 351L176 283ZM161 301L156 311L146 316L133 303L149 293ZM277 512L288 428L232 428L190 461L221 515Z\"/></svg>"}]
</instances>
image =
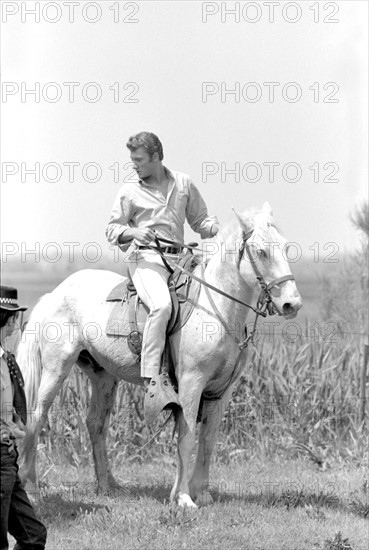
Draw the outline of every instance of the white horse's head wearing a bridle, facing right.
<instances>
[{"instance_id":1,"label":"white horse's head wearing a bridle, facing right","mask_svg":"<svg viewBox=\"0 0 369 550\"><path fill-rule=\"evenodd\" d=\"M249 284L259 284L265 303L270 297L269 312L296 317L302 300L287 258L288 242L277 230L268 203L261 211L249 214L235 212L241 226L238 268Z\"/></svg>"}]
</instances>

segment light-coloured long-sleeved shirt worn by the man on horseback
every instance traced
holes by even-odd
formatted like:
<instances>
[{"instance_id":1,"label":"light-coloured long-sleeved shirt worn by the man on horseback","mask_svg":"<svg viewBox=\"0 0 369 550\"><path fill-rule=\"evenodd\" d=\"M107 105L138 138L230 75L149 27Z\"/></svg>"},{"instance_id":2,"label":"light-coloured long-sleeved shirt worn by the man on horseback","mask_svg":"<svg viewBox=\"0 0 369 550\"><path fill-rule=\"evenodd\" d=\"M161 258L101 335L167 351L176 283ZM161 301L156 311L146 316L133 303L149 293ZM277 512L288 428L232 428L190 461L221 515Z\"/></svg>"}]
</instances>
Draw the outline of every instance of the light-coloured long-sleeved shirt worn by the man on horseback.
<instances>
[{"instance_id":1,"label":"light-coloured long-sleeved shirt worn by the man on horseback","mask_svg":"<svg viewBox=\"0 0 369 550\"><path fill-rule=\"evenodd\" d=\"M211 237L211 228L219 223L209 216L204 199L186 174L164 168L169 177L167 196L152 185L140 180L125 183L115 199L106 236L111 244L127 250L130 242L121 244L119 236L129 227L148 227L166 239L183 243L184 223L206 239Z\"/></svg>"}]
</instances>

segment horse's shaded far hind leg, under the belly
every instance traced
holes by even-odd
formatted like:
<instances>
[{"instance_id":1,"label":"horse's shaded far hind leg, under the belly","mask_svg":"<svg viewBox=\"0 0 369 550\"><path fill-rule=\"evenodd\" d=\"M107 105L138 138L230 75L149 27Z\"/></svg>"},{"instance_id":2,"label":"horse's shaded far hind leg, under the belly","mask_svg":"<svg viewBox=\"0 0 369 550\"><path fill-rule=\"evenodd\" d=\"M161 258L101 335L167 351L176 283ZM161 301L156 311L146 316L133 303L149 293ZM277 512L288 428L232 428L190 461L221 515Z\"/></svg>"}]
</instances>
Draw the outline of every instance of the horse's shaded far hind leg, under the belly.
<instances>
[{"instance_id":1,"label":"horse's shaded far hind leg, under the belly","mask_svg":"<svg viewBox=\"0 0 369 550\"><path fill-rule=\"evenodd\" d=\"M121 489L110 471L106 436L110 413L118 388L117 379L100 366L85 371L92 383L92 395L87 414L87 428L92 443L98 493L111 493Z\"/></svg>"}]
</instances>

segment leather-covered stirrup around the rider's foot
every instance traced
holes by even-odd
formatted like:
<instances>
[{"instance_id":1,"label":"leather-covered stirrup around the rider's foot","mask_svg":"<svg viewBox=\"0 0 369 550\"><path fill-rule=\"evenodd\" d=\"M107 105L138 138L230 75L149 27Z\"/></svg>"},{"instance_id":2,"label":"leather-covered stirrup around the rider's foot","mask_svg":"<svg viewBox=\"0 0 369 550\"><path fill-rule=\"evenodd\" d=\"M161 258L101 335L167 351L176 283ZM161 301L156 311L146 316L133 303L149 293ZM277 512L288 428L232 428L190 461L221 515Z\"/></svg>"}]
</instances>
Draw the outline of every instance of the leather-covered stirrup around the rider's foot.
<instances>
[{"instance_id":1,"label":"leather-covered stirrup around the rider's foot","mask_svg":"<svg viewBox=\"0 0 369 550\"><path fill-rule=\"evenodd\" d=\"M153 376L145 395L145 421L149 425L165 408L180 406L178 393L175 392L167 373Z\"/></svg>"}]
</instances>

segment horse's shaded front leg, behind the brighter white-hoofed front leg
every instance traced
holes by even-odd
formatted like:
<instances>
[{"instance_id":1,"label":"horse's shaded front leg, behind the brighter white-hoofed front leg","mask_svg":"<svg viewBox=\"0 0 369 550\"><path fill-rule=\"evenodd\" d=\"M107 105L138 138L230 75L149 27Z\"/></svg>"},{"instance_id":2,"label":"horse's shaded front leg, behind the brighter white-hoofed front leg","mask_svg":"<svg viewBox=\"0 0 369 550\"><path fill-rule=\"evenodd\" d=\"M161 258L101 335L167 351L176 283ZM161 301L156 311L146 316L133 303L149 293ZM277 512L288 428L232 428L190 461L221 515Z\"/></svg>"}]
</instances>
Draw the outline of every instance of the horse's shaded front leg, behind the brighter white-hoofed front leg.
<instances>
[{"instance_id":1,"label":"horse's shaded front leg, behind the brighter white-hoofed front leg","mask_svg":"<svg viewBox=\"0 0 369 550\"><path fill-rule=\"evenodd\" d=\"M189 483L190 495L196 504L205 505L213 502L209 493L210 458L230 396L231 389L227 390L221 399L205 400L203 403L196 463Z\"/></svg>"}]
</instances>

